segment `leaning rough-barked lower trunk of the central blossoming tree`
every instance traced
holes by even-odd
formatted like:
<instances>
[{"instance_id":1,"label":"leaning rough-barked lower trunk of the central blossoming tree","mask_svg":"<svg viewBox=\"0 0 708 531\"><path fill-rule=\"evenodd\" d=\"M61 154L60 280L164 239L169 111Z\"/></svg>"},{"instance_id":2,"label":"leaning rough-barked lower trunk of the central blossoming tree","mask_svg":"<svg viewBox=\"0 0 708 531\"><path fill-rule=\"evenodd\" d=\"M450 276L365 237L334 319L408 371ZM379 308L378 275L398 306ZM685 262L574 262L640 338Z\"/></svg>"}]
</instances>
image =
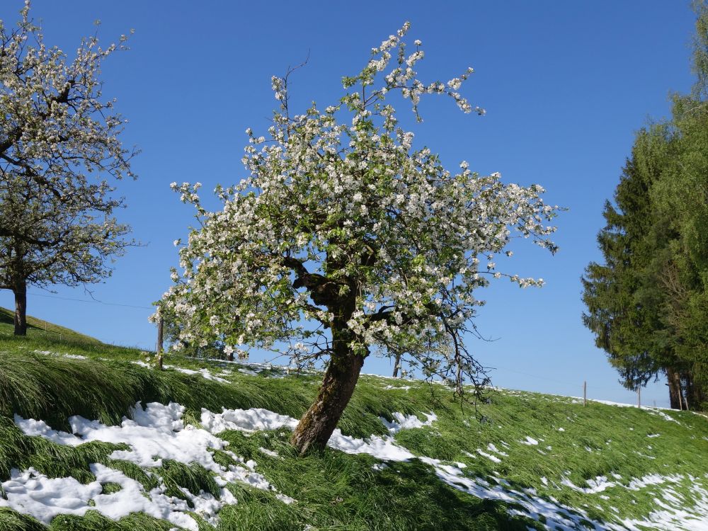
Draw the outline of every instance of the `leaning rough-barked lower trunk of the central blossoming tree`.
<instances>
[{"instance_id":1,"label":"leaning rough-barked lower trunk of the central blossoming tree","mask_svg":"<svg viewBox=\"0 0 708 531\"><path fill-rule=\"evenodd\" d=\"M308 450L323 450L337 427L359 379L364 356L351 350L332 355L317 399L300 419L290 443L300 455Z\"/></svg>"}]
</instances>

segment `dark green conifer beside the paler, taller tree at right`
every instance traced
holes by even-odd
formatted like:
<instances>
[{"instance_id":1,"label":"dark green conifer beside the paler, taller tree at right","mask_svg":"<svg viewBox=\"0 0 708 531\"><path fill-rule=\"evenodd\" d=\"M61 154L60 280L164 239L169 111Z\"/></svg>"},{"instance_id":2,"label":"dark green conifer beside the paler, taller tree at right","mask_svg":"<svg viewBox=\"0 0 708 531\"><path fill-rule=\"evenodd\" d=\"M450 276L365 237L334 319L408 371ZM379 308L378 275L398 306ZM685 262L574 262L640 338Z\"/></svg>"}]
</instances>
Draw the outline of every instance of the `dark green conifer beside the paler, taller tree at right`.
<instances>
[{"instance_id":1,"label":"dark green conifer beside the paler, taller tree at right","mask_svg":"<svg viewBox=\"0 0 708 531\"><path fill-rule=\"evenodd\" d=\"M615 204L605 202L607 224L598 234L605 263L590 263L582 278L588 307L583 323L625 387L636 389L667 374L671 403L678 407L678 360L666 340L661 320L665 297L656 275L670 235L651 202L651 186L661 176L666 154L657 152L651 139L646 131L637 136L615 190Z\"/></svg>"}]
</instances>

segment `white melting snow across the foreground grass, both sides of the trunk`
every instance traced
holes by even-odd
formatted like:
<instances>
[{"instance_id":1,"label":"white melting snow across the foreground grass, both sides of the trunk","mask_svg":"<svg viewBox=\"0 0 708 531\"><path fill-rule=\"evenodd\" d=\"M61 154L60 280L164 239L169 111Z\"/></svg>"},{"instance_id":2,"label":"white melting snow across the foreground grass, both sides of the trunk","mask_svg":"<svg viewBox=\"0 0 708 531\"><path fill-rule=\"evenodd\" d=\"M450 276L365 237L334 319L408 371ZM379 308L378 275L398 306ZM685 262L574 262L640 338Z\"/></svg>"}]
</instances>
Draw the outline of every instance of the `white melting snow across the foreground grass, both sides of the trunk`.
<instances>
[{"instance_id":1,"label":"white melting snow across the foreground grass, both sides of the trunk","mask_svg":"<svg viewBox=\"0 0 708 531\"><path fill-rule=\"evenodd\" d=\"M122 443L128 446L127 450L116 450L110 455L113 459L126 459L139 464L144 468L159 466L161 459L175 459L180 462L197 462L205 469L215 474L217 484L222 487L219 499L207 493L184 492L185 496L193 503L193 512L200 513L212 525L217 523L217 515L227 503L236 503L232 493L224 487L232 481L240 481L258 489L275 491L267 479L256 472L256 462L235 455L227 450L227 442L217 437L224 430L240 430L253 432L256 430L275 430L297 426L297 420L289 416L280 415L266 409L224 409L221 413L202 410L201 423L204 429L193 426L184 426L181 420L184 408L178 404L148 404L142 409L137 404L133 419L125 418L120 426L104 426L97 421L87 421L85 418L72 417L69 423L72 433L52 430L42 421L15 417L16 423L28 435L39 435L63 445L78 445L89 440L103 440L105 442ZM370 438L358 439L343 435L340 430L335 430L329 440L329 447L350 454L369 454L383 462L401 462L419 459L428 464L435 476L454 489L469 493L478 498L491 498L510 503L510 511L521 511L524 514L544 522L549 529L576 530L591 525L595 530L632 530L640 531L645 527L663 530L706 530L705 517L708 514L708 493L695 484L695 478L688 478L691 482L691 493L697 499L697 504L692 510L677 508L677 500L681 498L671 489L673 484L687 481L683 476L660 476L651 474L641 479L632 479L628 484L619 484L610 481L607 476L597 476L588 479L588 486L576 486L564 474L561 484L573 491L586 495L595 495L609 489L628 489L636 491L647 487L667 485L655 508L646 520L619 520L615 515L613 523L593 522L583 508L573 508L564 505L552 496L540 497L535 489L515 489L503 477L490 476L487 481L482 477L472 477L464 472L465 465L457 462L443 462L426 456L414 455L406 447L399 445L394 439L396 433L404 429L419 429L431 426L437 420L434 413L426 414L427 420L421 421L417 416L408 416L403 413L393 413L392 421L382 419L384 426L389 429L389 435L383 437L372 435ZM526 445L538 445L538 441L527 436ZM237 463L222 467L214 462L211 450L219 449L227 453ZM277 457L278 454L260 448L261 452ZM499 456L506 456L505 452L489 443L487 450L477 449L476 452L491 461L499 463ZM474 457L469 455L469 457ZM380 471L386 467L385 463L377 464L374 470ZM140 484L125 477L121 472L102 467L100 464L91 465L91 470L96 474L96 481L91 484L79 484L73 478L49 479L38 474L32 469L19 472L13 470L9 481L2 484L7 499L0 500L0 506L10 506L21 513L34 515L42 522L49 522L57 514L81 515L95 508L109 518L120 516L135 510L141 510L155 518L168 520L178 527L190 530L198 529L195 520L190 518L190 508L184 500L171 498L164 493L164 486L144 492ZM497 474L498 475L498 474ZM619 474L610 474L615 480L622 479ZM540 478L544 486L549 485L546 477ZM101 484L117 483L122 486L118 492L111 494L101 493ZM280 493L276 493L280 501L292 503L294 500ZM599 496L598 496L599 497ZM139 499L138 499L139 498ZM616 512L616 511L615 511ZM513 513L512 513L513 514ZM703 518L701 520L701 518ZM585 526L585 527L583 527ZM701 527L704 526L704 527Z\"/></svg>"}]
</instances>

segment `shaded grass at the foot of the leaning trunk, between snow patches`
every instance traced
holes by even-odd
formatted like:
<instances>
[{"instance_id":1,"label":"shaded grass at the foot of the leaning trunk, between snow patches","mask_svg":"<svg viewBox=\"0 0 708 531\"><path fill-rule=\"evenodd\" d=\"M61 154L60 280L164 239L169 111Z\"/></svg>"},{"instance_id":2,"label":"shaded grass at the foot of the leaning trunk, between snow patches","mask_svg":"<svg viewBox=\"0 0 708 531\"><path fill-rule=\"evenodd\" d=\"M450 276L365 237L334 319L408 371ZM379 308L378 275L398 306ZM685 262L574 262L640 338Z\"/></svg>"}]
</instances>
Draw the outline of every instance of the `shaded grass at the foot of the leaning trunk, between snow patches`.
<instances>
[{"instance_id":1,"label":"shaded grass at the foot of the leaning trunk, between snow patches","mask_svg":"<svg viewBox=\"0 0 708 531\"><path fill-rule=\"evenodd\" d=\"M296 500L286 505L275 493L234 486L239 503L222 510L219 529L302 530L309 525L350 531L527 531L537 525L531 518L509 515L508 503L476 498L445 484L417 459L388 462L375 470L381 462L370 455L327 449L297 457L285 430L219 435L236 454L256 459L257 472ZM269 457L259 447L278 455Z\"/></svg>"}]
</instances>

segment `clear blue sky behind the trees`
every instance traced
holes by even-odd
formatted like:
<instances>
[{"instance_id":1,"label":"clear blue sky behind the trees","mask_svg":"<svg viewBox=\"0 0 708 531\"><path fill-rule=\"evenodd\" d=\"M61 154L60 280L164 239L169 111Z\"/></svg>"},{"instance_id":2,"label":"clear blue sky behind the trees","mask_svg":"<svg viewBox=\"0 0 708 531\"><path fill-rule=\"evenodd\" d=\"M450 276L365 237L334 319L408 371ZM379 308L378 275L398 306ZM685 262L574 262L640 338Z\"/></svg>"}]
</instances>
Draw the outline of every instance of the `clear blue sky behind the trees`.
<instances>
[{"instance_id":1,"label":"clear blue sky behind the trees","mask_svg":"<svg viewBox=\"0 0 708 531\"><path fill-rule=\"evenodd\" d=\"M465 159L480 173L540 183L547 202L569 207L558 219L554 257L515 246L507 270L547 280L520 290L500 280L486 294L476 324L497 341L471 340L471 350L497 367L501 387L582 393L634 401L617 384L605 354L581 324L580 276L600 259L595 236L603 202L612 196L634 132L669 113L670 91L688 91L693 13L689 1L458 1L351 2L205 0L98 2L33 0L46 42L67 52L101 19L105 44L135 28L129 52L103 70L106 96L130 120L123 142L142 149L135 182L118 183L132 224L146 244L115 263L112 278L91 287L30 289L29 314L103 341L153 348L147 322L152 302L170 285L172 241L185 236L192 212L169 190L171 181L216 183L244 176L240 159L246 127L265 132L275 106L270 76L307 57L292 80L292 105L321 106L340 96L341 76L355 74L371 47L411 21L411 40L423 41L421 79L450 79L476 69L464 93L487 115L463 115L451 101L423 100L418 145L451 166ZM21 0L4 0L0 18L17 19ZM403 110L403 109L401 109ZM216 205L215 202L207 204ZM522 242L527 243L527 242ZM47 295L50 295L47 297ZM11 307L9 292L0 304ZM142 308L140 308L142 307ZM367 360L365 372L390 372L387 360ZM668 405L663 382L642 393L645 404Z\"/></svg>"}]
</instances>

